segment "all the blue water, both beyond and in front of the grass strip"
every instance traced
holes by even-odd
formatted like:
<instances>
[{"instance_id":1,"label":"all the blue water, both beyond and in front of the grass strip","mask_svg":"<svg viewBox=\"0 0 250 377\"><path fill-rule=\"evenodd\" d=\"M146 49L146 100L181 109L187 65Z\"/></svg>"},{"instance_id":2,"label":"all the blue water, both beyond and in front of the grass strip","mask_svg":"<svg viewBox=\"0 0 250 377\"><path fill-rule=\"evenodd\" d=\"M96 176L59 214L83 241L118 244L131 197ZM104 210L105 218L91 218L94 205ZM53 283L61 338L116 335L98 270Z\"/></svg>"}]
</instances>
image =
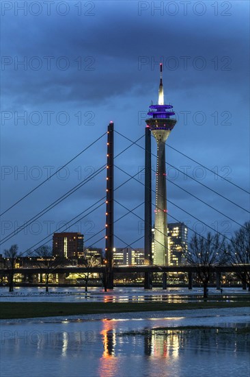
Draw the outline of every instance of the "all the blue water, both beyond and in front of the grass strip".
<instances>
[{"instance_id":1,"label":"all the blue water, both beyond and in front of the grass strip","mask_svg":"<svg viewBox=\"0 0 250 377\"><path fill-rule=\"evenodd\" d=\"M215 289L211 293L219 295ZM201 289L0 289L2 301L188 301ZM225 289L242 293L240 289ZM247 293L245 293L247 294ZM230 377L250 374L249 308L1 321L1 377ZM206 326L206 327L203 327Z\"/></svg>"}]
</instances>

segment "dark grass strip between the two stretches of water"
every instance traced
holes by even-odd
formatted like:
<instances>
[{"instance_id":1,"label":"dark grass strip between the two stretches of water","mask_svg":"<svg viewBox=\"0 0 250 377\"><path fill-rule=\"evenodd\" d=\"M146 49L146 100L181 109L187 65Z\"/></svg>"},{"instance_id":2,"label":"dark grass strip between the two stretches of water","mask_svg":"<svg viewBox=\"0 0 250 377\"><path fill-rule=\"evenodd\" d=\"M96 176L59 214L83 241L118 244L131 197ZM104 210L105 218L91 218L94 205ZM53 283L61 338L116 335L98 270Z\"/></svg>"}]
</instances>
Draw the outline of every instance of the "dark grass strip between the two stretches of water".
<instances>
[{"instance_id":1,"label":"dark grass strip between the two stretches of water","mask_svg":"<svg viewBox=\"0 0 250 377\"><path fill-rule=\"evenodd\" d=\"M227 298L228 300L228 298ZM0 319L53 317L96 313L126 313L138 311L184 311L203 308L236 308L249 306L249 297L240 296L234 301L210 300L203 302L1 302Z\"/></svg>"}]
</instances>

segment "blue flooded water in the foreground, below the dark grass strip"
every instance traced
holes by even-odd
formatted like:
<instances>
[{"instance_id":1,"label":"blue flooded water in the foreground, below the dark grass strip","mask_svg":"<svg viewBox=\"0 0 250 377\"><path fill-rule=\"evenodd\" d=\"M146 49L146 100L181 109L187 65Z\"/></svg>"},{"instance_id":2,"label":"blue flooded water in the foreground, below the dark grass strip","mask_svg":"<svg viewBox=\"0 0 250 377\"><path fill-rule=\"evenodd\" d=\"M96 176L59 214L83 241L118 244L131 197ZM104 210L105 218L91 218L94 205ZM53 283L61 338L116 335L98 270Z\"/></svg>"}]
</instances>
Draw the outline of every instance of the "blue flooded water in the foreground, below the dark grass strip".
<instances>
[{"instance_id":1,"label":"blue flooded water in the foreground, below the dark grass strip","mask_svg":"<svg viewBox=\"0 0 250 377\"><path fill-rule=\"evenodd\" d=\"M3 324L1 377L249 376L249 324L169 327L178 321Z\"/></svg>"}]
</instances>

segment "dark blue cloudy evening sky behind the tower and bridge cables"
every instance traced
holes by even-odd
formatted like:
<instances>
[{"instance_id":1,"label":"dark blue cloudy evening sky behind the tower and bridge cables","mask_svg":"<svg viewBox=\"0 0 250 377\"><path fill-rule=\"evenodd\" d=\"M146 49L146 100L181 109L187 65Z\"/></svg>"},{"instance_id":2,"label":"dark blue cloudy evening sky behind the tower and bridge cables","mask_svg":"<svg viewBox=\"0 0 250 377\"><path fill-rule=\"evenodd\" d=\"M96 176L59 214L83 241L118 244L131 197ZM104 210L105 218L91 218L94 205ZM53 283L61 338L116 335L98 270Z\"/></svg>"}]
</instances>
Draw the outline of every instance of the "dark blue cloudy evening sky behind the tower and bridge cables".
<instances>
[{"instance_id":1,"label":"dark blue cloudy evening sky behind the tower and bridge cables","mask_svg":"<svg viewBox=\"0 0 250 377\"><path fill-rule=\"evenodd\" d=\"M167 162L180 170L167 168L169 221L186 222L190 235L192 229L206 235L210 226L230 236L237 223L249 220L238 207L249 210L249 195L229 183L249 191L249 1L27 1L22 10L23 3L1 3L1 212L104 134L109 121L133 141L143 136L148 106L157 101L161 61L165 101L178 117L167 141ZM143 146L143 138L138 143ZM129 145L115 134L115 154ZM1 237L97 171L105 156L104 136L6 212ZM143 149L134 145L115 165L135 175L143 160ZM127 179L115 169L115 187ZM141 174L137 179L143 183ZM1 252L13 243L20 252L33 247L101 199L105 183L104 171L1 245ZM142 204L141 183L130 180L117 189L117 202L130 210ZM115 219L126 213L118 203ZM143 217L143 205L135 213ZM92 236L105 227L105 206L86 214L70 231L83 232L86 245L104 247L104 232ZM115 246L133 243L142 228L132 214L117 221L115 236L125 242L116 238ZM133 246L142 247L143 239Z\"/></svg>"}]
</instances>

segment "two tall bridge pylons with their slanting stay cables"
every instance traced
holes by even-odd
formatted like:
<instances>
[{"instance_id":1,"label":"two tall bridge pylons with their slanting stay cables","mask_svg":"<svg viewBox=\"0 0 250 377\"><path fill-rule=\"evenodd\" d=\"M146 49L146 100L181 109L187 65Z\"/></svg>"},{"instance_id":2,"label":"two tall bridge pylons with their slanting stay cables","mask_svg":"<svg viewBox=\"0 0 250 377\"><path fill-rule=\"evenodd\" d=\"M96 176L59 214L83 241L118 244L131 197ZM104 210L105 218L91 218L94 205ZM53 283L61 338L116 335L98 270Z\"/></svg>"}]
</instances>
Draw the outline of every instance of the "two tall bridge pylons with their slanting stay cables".
<instances>
[{"instance_id":1,"label":"two tall bridge pylons with their slanting stay cables","mask_svg":"<svg viewBox=\"0 0 250 377\"><path fill-rule=\"evenodd\" d=\"M124 140L129 142L129 145L127 147L125 147L124 149L122 149L118 152L116 152L115 148L114 148L114 140L115 140L114 136L115 136L115 134L117 134L117 136L122 137L122 138L124 138ZM68 220L67 223L64 223L63 226L56 228L55 230L53 230L53 232L51 232L50 234L47 234L45 237L40 239L35 244L30 245L30 247L27 250L24 250L22 254L25 255L25 254L27 254L27 252L29 252L30 254L35 253L36 250L38 250L38 248L40 246L46 245L47 243L51 242L54 232L65 232L66 230L68 230L68 228L74 226L81 219L84 219L84 218L88 217L89 215L94 217L95 212L96 212L96 210L98 210L98 208L103 209L103 213L106 215L106 222L104 223L103 228L101 228L100 230L98 230L97 232L95 232L94 234L89 236L88 239L85 239L85 244L87 243L87 247L92 247L93 245L96 245L96 243L105 240L105 252L106 252L106 258L107 258L107 262L108 262L107 265L109 267L108 273L111 276L111 281L110 281L109 287L112 287L112 285L113 285L113 283L112 283L113 272L117 271L117 268L118 268L118 267L113 266L114 239L125 244L126 245L125 247L133 247L134 249L135 249L135 247L133 245L138 244L139 241L142 242L143 239L144 239L144 244L148 245L149 246L148 249L150 250L150 247L151 247L150 241L145 241L146 240L145 234L143 234L139 238L135 239L135 241L133 241L133 242L128 242L128 240L121 239L120 235L115 234L115 232L114 232L114 224L119 223L119 221L121 219L123 219L124 217L126 217L128 214L132 214L132 215L135 216L136 219L143 221L145 230L148 229L148 230L151 231L151 229L152 229L152 199L151 199L151 193L155 193L155 191L151 187L151 182L149 180L146 180L146 179L145 179L145 182L142 182L141 180L138 179L138 172L135 173L135 174L131 174L129 171L126 171L123 167L120 167L119 164L117 163L117 158L119 156L122 156L131 147L137 147L137 148L141 149L141 151L143 151L145 156L147 155L148 138L150 137L150 135L148 134L147 128L145 129L145 134L141 135L139 138L137 138L137 140L132 141L130 138L128 138L126 135L122 134L121 132L115 131L113 123L110 123L107 133L105 132L104 134L101 134L100 136L98 136L92 143L89 143L89 145L87 145L77 155L73 156L70 160L68 160L68 162L65 162L64 165L62 165L57 171L55 171L55 173L51 174L48 178L46 178L46 180L42 181L35 188L31 189L31 191L29 191L28 193L23 195L23 197L20 197L20 199L18 199L16 202L14 202L11 206L4 209L3 212L1 212L1 217L3 217L6 213L8 213L10 211L14 212L15 208L21 202L25 201L25 203L27 203L26 205L29 206L29 199L31 199L32 194L36 190L40 189L40 187L42 187L43 185L49 185L51 180L53 179L53 177L55 177L56 173L58 173L61 169L64 169L64 167L67 167L68 165L70 165L70 163L72 161L77 160L77 158L79 158L80 156L89 156L90 155L89 152L91 152L93 150L93 148L96 146L96 143L98 143L98 141L102 141L103 143L105 143L106 136L107 136L107 162L105 162L105 159L104 159L103 162L105 162L105 163L103 163L103 165L100 165L100 167L98 167L98 169L96 169L93 173L88 175L87 178L84 178L77 185L73 186L72 189L70 189L66 193L64 193L64 195L61 195L56 200L51 202L51 204L48 204L47 206L45 206L42 210L40 210L40 212L36 213L28 221L26 221L25 224L23 224L22 226L19 226L14 231L12 231L12 232L8 233L6 236L4 236L1 239L0 245L3 245L4 243L6 243L6 242L8 242L12 239L14 239L16 241L16 239L18 239L18 233L25 230L25 228L30 226L34 221L37 221L38 219L40 219L40 217L42 217L47 212L49 212L53 208L57 207L61 202L64 202L64 200L66 200L72 194L77 192L83 186L87 185L87 191L91 191L92 185L95 184L95 182L93 182L93 179L98 177L98 175L100 175L104 171L107 171L107 178L106 178L107 179L107 189L106 189L106 192L103 193L102 197L100 197L98 200L96 200L96 202L94 202L94 204L92 204L91 206L86 206L86 208L82 208L81 212L79 212L77 215L72 217L72 219ZM143 138L145 138L145 147L143 147L143 146L141 146L141 144L139 144L139 142L142 141ZM193 158L184 155L181 151L178 151L178 149L174 149L174 150L176 152L178 152L179 154L185 156L186 158L189 158L193 162L199 164L199 162L197 162L197 160L194 160ZM150 151L150 154L152 154L151 151ZM152 156L155 156L155 155L152 154ZM233 205L235 208L238 208L245 213L248 213L248 214L250 213L249 210L247 210L246 208L243 208L242 206L240 206L239 204L234 202L232 199L226 197L225 195L217 192L213 187L207 186L206 184L204 184L204 182L201 182L200 180L197 180L194 177L192 177L191 175L189 175L188 173L181 171L180 169L178 169L178 167L175 167L175 166L173 166L169 163L167 163L167 165L169 165L173 169L176 169L176 171L179 171L180 173L182 173L189 180L195 181L195 183L199 184L200 187L206 188L208 191L210 191L210 193L212 193L212 195L214 195L214 197L215 196L220 197L221 200L223 199L225 202L227 202L230 205ZM202 166L204 169L208 169L208 171L211 171L208 167L205 167L202 164L199 164L199 165ZM145 160L145 167L143 169L141 169L141 171L143 171L145 169L149 169L149 167L147 165L147 160ZM113 174L114 170L116 170L117 174L120 172L120 173L122 173L126 176L126 180L124 182L122 182L121 184L117 185L117 186L115 186L115 180L114 180L114 174ZM154 168L152 168L150 166L150 174L152 174L152 173L156 174L156 171L154 170ZM214 173L214 171L212 171L212 173ZM227 184L234 186L234 188L238 189L239 192L242 192L244 194L249 195L249 191L247 191L245 188L238 186L236 183L234 183L230 180L226 180L225 178L221 177L221 175L219 175L218 173L214 173L214 174L216 174L219 178L225 180L225 182L227 182ZM145 174L145 176L146 175L147 174ZM184 195L186 195L187 198L192 197L193 199L197 200L197 203L200 202L200 203L204 204L205 206L208 206L208 208L214 210L214 212L219 213L219 215L222 215L223 217L225 217L225 219L230 219L230 221L236 223L238 226L242 226L242 224L240 224L237 221L237 219L230 217L227 213L224 213L221 210L219 210L218 208L216 208L215 206L212 206L212 204L210 204L208 201L206 202L204 199L200 199L199 197L197 197L197 195L190 192L186 187L181 186L176 182L173 182L173 180L169 180L167 178L167 176L165 177L165 179L170 184L173 184L174 186L178 187L178 189L180 189L184 193ZM122 186L128 187L128 190L129 190L129 184L132 181L135 181L138 184L144 186L145 199L142 202L140 202L139 204L137 204L137 206L134 206L134 208L130 209L130 208L128 208L128 206L124 205L120 200L117 199L118 195L116 195L116 192ZM149 192L150 192L150 195L149 195ZM148 193L148 197L147 197L147 193ZM150 198L150 200L149 200L149 198ZM184 214L188 215L189 217L192 217L196 221L200 221L201 223L203 223L204 226L206 226L207 228L210 228L213 232L217 232L217 233L221 234L221 232L219 232L219 230L214 230L214 228L212 228L210 225L208 225L208 223L206 223L206 221L204 221L204 219L197 218L197 216L193 215L189 210L186 210L184 207L176 204L175 202L172 202L170 200L168 200L168 202L172 206L178 208L178 210L181 210ZM126 211L124 213L124 215L122 215L121 217L119 217L117 219L114 219L114 213L113 213L114 204L121 206ZM144 208L145 208L144 218L137 215L137 213L135 212L137 210L137 208L139 208L141 206L144 206ZM157 206L156 206L156 209L157 209ZM151 214L151 216L150 216L150 214ZM170 212L170 213L168 212L167 216L170 217L171 219L173 219L176 222L181 222L181 220L177 219L176 216L172 212ZM189 228L189 226L187 226L187 228ZM197 232L196 230L193 230L192 228L189 228L189 230L191 230L194 233L199 234L199 232ZM158 232L159 232L159 230L158 230ZM223 235L223 234L221 234L221 235ZM204 238L206 238L206 237L204 237ZM225 238L227 238L227 237L225 237ZM228 240L230 241L230 239L228 239ZM115 243L117 243L117 241ZM156 245L156 248L157 248L157 245ZM151 257L152 257L152 255L149 258L150 263L152 263L152 265L144 267L143 272L145 274L151 273L152 271L157 271L157 270L162 271L162 272L170 271L169 270L169 268L171 268L170 266L156 266L156 265L154 265ZM124 268L125 268L124 271L130 271L130 267L128 267L127 269L126 269L126 267L124 267ZM143 267L138 267L138 268L141 269ZM133 267L133 271L135 271L134 267ZM189 269L186 269L185 271L189 272Z\"/></svg>"}]
</instances>

